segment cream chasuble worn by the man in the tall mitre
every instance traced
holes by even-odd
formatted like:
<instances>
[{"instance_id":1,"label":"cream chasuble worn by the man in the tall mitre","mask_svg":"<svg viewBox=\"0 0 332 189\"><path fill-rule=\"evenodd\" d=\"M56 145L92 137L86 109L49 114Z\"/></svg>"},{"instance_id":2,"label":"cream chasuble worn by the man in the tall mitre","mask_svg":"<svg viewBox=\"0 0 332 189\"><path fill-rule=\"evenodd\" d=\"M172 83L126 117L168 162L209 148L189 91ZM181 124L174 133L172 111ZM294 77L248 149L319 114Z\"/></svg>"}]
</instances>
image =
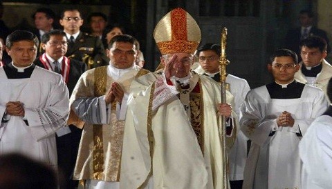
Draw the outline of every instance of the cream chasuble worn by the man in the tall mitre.
<instances>
[{"instance_id":1,"label":"cream chasuble worn by the man in the tall mitre","mask_svg":"<svg viewBox=\"0 0 332 189\"><path fill-rule=\"evenodd\" d=\"M203 97L203 153L187 112L178 97L152 112L154 83L150 73L133 81L128 99L121 159L120 188L222 188L223 159L216 104L220 88L208 77L193 74ZM192 83L191 83L192 84ZM196 85L196 83L193 83ZM227 93L228 103L233 101ZM227 177L227 176L226 176Z\"/></svg>"}]
</instances>

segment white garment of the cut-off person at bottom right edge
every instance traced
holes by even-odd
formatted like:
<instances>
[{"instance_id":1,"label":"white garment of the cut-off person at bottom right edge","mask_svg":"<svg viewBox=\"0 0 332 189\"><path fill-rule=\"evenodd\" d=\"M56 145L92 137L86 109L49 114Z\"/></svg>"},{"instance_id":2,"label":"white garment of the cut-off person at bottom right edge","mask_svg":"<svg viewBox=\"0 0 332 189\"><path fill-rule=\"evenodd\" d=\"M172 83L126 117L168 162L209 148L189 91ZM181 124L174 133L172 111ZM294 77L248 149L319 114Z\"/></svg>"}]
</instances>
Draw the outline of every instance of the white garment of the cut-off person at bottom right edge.
<instances>
[{"instance_id":1,"label":"white garment of the cut-off person at bottom right edge","mask_svg":"<svg viewBox=\"0 0 332 189\"><path fill-rule=\"evenodd\" d=\"M302 189L332 188L332 117L317 117L299 143Z\"/></svg>"}]
</instances>

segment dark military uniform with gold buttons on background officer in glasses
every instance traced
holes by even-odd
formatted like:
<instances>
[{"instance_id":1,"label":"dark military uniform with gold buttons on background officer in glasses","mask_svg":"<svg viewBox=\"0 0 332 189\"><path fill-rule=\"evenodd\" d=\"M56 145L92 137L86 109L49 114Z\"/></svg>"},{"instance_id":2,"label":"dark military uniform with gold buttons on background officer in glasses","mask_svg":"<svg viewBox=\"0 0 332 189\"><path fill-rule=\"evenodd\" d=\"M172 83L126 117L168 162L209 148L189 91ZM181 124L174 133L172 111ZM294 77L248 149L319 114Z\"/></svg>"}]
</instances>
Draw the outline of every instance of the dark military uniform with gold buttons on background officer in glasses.
<instances>
[{"instance_id":1,"label":"dark military uniform with gold buttons on background officer in glasses","mask_svg":"<svg viewBox=\"0 0 332 189\"><path fill-rule=\"evenodd\" d=\"M107 58L104 51L99 37L80 32L75 39L73 48L68 46L66 57L83 61L88 66L88 69L91 69L109 65L109 58Z\"/></svg>"}]
</instances>

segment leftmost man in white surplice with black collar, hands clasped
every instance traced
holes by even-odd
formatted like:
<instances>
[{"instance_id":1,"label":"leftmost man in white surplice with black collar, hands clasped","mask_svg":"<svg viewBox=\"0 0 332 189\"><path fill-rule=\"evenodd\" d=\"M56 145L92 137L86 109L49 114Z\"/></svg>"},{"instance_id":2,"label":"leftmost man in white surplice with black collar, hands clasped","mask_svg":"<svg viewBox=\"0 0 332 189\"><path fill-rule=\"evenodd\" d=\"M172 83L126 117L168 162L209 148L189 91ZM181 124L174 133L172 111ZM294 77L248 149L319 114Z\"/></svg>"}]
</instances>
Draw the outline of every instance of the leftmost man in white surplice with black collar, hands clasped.
<instances>
[{"instance_id":1,"label":"leftmost man in white surplice with black collar, hands clasped","mask_svg":"<svg viewBox=\"0 0 332 189\"><path fill-rule=\"evenodd\" d=\"M12 62L0 68L0 155L19 152L56 170L55 132L66 126L69 93L60 74L33 64L38 46L26 30L7 37Z\"/></svg>"}]
</instances>

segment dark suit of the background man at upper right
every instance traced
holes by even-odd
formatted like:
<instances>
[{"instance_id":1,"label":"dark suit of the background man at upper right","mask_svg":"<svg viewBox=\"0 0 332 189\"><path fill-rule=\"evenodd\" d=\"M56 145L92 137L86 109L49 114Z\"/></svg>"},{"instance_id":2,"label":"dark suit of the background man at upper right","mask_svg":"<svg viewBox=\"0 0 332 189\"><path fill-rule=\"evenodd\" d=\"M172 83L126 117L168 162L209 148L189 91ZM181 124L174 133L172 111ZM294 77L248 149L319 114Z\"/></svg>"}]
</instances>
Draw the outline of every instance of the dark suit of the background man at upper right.
<instances>
[{"instance_id":1,"label":"dark suit of the background man at upper right","mask_svg":"<svg viewBox=\"0 0 332 189\"><path fill-rule=\"evenodd\" d=\"M330 41L327 37L327 34L324 30L320 30L318 28L315 28L314 26L311 28L311 30L308 32L309 36L315 35L322 37L325 39L327 43L327 52L329 53L331 51L330 48ZM293 50L296 52L297 56L299 56L299 42L301 41L301 28L295 28L293 30L288 30L286 34L286 41L285 41L285 48L288 48L289 50ZM301 57L299 56L299 59Z\"/></svg>"}]
</instances>

